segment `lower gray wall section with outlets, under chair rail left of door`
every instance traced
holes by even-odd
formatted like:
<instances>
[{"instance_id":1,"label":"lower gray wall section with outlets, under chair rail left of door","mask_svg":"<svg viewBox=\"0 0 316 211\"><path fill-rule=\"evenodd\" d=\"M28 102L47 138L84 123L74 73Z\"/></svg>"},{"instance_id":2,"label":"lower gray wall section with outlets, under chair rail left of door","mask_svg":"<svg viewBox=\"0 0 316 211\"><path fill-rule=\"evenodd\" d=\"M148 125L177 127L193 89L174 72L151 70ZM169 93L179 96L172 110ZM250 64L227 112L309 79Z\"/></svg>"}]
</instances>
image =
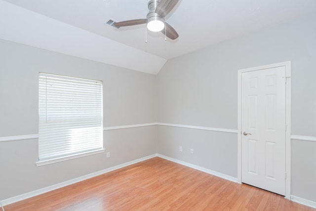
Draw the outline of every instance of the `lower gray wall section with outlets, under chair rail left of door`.
<instances>
[{"instance_id":1,"label":"lower gray wall section with outlets, under chair rail left of door","mask_svg":"<svg viewBox=\"0 0 316 211\"><path fill-rule=\"evenodd\" d=\"M179 146L182 146L182 152L179 152ZM190 152L191 148L194 150L193 154ZM159 126L158 153L237 177L232 165L237 158L235 133Z\"/></svg>"}]
</instances>

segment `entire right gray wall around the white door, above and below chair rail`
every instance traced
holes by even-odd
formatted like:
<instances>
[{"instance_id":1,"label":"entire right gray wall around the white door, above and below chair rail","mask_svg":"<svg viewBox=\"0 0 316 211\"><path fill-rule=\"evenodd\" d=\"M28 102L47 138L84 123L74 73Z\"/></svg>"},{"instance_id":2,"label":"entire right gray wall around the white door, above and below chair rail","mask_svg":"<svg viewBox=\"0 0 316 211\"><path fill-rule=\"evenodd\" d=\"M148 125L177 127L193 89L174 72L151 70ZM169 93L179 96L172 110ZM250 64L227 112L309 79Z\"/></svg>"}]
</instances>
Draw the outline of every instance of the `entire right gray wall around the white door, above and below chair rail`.
<instances>
[{"instance_id":1,"label":"entire right gray wall around the white door, above and below chair rail","mask_svg":"<svg viewBox=\"0 0 316 211\"><path fill-rule=\"evenodd\" d=\"M158 122L237 129L237 71L291 61L291 133L316 136L315 23L316 13L168 60ZM316 142L292 140L292 195L314 202L315 152ZM237 177L237 134L158 127L158 153Z\"/></svg>"}]
</instances>

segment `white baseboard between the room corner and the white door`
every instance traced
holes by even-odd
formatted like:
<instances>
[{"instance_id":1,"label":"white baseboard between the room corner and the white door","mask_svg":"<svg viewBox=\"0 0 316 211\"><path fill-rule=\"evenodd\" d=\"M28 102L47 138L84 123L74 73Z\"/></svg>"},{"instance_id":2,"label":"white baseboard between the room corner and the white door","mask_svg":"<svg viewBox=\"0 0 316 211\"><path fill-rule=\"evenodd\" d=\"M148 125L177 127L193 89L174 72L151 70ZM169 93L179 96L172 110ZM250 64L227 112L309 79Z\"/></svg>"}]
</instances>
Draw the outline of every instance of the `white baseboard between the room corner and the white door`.
<instances>
[{"instance_id":1,"label":"white baseboard between the room corner and the white door","mask_svg":"<svg viewBox=\"0 0 316 211\"><path fill-rule=\"evenodd\" d=\"M209 173L209 174L212 174L214 176L218 176L218 177L221 177L223 179L230 180L232 182L238 182L238 179L236 177L229 176L229 175L226 175L226 174L214 171L214 170L210 170L210 169L206 169L206 168L203 168L203 167L199 167L197 165L190 164L190 163L187 163L187 162L184 162L184 161L180 161L180 160L177 160L177 159L174 159L174 158L170 158L170 157L167 157L167 156L164 156L164 155L160 155L160 154L157 154L157 157L166 159L168 161L172 161L172 162L177 163L177 164L181 164L183 166L190 167L192 169L197 169L197 170L203 171L205 173Z\"/></svg>"}]
</instances>

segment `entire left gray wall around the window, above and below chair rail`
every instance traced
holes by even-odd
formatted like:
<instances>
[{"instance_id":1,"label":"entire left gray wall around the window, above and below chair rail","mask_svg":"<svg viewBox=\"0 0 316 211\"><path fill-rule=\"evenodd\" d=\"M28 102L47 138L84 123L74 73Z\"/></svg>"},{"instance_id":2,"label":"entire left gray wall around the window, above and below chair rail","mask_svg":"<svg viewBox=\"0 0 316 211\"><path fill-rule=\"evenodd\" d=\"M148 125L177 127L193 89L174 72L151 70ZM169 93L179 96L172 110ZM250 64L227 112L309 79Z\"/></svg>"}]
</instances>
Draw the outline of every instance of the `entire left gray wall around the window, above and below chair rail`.
<instances>
[{"instance_id":1,"label":"entire left gray wall around the window, above and below chair rail","mask_svg":"<svg viewBox=\"0 0 316 211\"><path fill-rule=\"evenodd\" d=\"M104 127L156 122L155 76L0 40L0 137L38 133L38 73L104 82ZM153 155L157 128L104 131L111 152L37 167L38 139L0 142L0 200Z\"/></svg>"}]
</instances>

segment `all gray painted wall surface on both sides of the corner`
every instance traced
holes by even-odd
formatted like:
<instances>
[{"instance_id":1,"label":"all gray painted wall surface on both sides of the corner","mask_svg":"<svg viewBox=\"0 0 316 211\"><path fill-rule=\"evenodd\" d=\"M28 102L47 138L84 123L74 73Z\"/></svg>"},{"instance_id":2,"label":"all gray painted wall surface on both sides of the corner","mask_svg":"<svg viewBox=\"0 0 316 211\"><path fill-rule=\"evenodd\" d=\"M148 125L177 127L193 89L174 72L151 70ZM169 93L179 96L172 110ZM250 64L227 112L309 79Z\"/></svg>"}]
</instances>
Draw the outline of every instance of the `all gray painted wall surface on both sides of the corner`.
<instances>
[{"instance_id":1,"label":"all gray painted wall surface on both sides of the corner","mask_svg":"<svg viewBox=\"0 0 316 211\"><path fill-rule=\"evenodd\" d=\"M103 80L105 127L237 129L237 70L284 61L292 64L292 134L316 136L315 22L314 13L171 59L158 76L0 40L0 137L38 133L38 72ZM36 167L37 139L0 142L0 200L154 153L237 177L236 133L137 127L107 130L104 143L111 158ZM316 142L292 140L292 195L314 202L315 152Z\"/></svg>"}]
</instances>

